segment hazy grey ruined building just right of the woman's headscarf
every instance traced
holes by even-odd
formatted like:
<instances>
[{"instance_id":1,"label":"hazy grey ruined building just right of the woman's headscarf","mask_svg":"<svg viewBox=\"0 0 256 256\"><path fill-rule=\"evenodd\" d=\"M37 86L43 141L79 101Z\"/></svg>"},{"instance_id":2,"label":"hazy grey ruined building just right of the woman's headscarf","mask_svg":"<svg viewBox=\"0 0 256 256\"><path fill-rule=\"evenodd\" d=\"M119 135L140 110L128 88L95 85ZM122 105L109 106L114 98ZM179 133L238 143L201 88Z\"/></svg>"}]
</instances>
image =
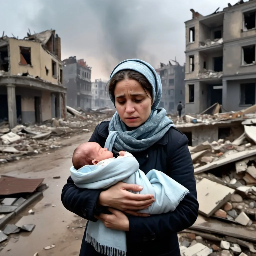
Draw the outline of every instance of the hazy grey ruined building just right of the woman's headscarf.
<instances>
[{"instance_id":1,"label":"hazy grey ruined building just right of the woman's headscarf","mask_svg":"<svg viewBox=\"0 0 256 256\"><path fill-rule=\"evenodd\" d=\"M169 61L167 65L160 63L156 70L161 77L162 98L159 107L165 108L168 113L177 112L177 105L185 101L185 66L175 65Z\"/></svg>"}]
</instances>

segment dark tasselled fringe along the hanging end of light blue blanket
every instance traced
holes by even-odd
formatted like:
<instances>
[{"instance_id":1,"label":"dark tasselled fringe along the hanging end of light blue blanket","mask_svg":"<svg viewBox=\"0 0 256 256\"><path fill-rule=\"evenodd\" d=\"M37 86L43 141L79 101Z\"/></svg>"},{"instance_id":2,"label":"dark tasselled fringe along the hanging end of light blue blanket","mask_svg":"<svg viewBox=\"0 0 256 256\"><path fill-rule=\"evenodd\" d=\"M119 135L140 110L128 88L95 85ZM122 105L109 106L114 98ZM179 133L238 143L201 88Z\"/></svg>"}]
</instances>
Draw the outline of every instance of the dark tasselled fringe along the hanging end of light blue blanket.
<instances>
[{"instance_id":1,"label":"dark tasselled fringe along the hanging end of light blue blanket","mask_svg":"<svg viewBox=\"0 0 256 256\"><path fill-rule=\"evenodd\" d=\"M90 234L86 233L85 241L93 246L93 248L99 252L104 253L107 256L126 256L126 252L119 250L117 248L109 247L106 245L102 245L97 242L97 240L90 236Z\"/></svg>"}]
</instances>

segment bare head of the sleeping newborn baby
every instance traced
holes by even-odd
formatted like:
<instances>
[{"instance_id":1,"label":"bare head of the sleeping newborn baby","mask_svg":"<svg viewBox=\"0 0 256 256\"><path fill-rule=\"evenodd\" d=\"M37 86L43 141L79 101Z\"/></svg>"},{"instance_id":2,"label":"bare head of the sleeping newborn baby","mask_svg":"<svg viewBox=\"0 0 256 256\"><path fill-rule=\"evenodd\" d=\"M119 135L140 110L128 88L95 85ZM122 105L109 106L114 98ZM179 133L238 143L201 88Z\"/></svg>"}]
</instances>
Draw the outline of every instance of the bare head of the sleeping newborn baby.
<instances>
[{"instance_id":1,"label":"bare head of the sleeping newborn baby","mask_svg":"<svg viewBox=\"0 0 256 256\"><path fill-rule=\"evenodd\" d=\"M80 144L74 151L72 164L76 170L84 165L97 164L102 160L112 158L113 153L102 148L96 142L85 142Z\"/></svg>"}]
</instances>

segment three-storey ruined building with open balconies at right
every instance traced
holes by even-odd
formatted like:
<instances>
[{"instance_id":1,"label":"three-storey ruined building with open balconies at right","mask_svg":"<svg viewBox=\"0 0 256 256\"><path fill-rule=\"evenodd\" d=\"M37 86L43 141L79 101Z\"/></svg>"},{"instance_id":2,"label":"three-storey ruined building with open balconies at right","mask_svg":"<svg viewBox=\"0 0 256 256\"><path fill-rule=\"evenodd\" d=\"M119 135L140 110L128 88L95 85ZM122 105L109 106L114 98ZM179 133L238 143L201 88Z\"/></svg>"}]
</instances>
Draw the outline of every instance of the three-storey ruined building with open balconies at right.
<instances>
[{"instance_id":1,"label":"three-storey ruined building with open balconies at right","mask_svg":"<svg viewBox=\"0 0 256 256\"><path fill-rule=\"evenodd\" d=\"M255 104L256 1L228 4L186 24L186 113L218 102L225 111Z\"/></svg>"}]
</instances>

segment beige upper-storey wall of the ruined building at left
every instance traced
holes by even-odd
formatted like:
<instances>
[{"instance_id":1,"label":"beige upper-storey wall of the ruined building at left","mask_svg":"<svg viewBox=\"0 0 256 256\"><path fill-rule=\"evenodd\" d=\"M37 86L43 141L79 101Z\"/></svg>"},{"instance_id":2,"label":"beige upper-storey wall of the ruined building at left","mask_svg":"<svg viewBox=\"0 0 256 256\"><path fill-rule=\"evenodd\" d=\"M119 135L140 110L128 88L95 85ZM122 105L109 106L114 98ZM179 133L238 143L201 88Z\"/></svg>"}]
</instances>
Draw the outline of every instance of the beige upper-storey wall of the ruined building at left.
<instances>
[{"instance_id":1,"label":"beige upper-storey wall of the ruined building at left","mask_svg":"<svg viewBox=\"0 0 256 256\"><path fill-rule=\"evenodd\" d=\"M31 48L31 66L19 64L20 46ZM12 75L28 72L31 76L39 76L46 81L58 84L58 78L60 73L59 64L61 64L61 62L57 58L49 54L46 50L44 50L39 42L9 38L9 47L11 68L10 70ZM52 77L52 60L57 63L56 78ZM46 75L45 66L49 69L48 76Z\"/></svg>"}]
</instances>

